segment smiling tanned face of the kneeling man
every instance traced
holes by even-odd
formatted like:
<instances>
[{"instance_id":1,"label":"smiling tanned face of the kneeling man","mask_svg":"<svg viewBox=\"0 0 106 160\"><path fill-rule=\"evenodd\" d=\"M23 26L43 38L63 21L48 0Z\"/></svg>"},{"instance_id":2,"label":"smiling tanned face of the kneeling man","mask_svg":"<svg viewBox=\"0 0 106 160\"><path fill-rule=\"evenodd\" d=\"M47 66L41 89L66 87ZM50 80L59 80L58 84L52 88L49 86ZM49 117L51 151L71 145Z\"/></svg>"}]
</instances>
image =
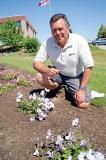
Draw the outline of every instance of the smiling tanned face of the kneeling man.
<instances>
[{"instance_id":1,"label":"smiling tanned face of the kneeling man","mask_svg":"<svg viewBox=\"0 0 106 160\"><path fill-rule=\"evenodd\" d=\"M51 31L57 44L63 48L68 41L69 34L69 29L64 19L61 18L56 22L53 22L51 24Z\"/></svg>"}]
</instances>

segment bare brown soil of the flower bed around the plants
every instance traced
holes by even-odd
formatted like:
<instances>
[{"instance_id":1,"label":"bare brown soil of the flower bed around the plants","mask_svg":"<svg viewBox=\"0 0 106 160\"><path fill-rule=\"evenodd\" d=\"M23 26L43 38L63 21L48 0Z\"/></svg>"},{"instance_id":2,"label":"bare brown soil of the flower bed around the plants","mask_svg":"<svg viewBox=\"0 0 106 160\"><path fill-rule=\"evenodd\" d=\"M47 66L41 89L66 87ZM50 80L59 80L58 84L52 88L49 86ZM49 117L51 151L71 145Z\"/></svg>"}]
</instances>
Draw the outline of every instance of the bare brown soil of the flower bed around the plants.
<instances>
[{"instance_id":1,"label":"bare brown soil of the flower bed around the plants","mask_svg":"<svg viewBox=\"0 0 106 160\"><path fill-rule=\"evenodd\" d=\"M18 71L10 67L5 69ZM0 72L5 69L2 68ZM4 82L0 77L0 83ZM28 95L35 88L41 87L35 82L32 87L19 87L0 96L0 160L35 160L33 152L36 138L44 139L49 128L55 134L67 132L74 118L79 118L82 135L89 138L95 149L106 153L106 107L79 109L65 99L62 90L52 99L55 108L46 120L31 122L29 115L17 111L16 94L21 91Z\"/></svg>"}]
</instances>

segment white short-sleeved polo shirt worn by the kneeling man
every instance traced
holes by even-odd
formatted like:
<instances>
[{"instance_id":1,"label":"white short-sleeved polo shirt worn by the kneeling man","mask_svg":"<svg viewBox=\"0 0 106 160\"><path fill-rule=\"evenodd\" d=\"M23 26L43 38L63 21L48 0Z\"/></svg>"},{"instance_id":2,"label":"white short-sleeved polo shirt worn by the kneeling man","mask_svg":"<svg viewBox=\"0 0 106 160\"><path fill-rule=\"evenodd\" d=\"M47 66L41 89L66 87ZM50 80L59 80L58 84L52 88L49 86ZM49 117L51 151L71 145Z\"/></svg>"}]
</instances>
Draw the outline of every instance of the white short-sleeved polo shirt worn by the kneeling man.
<instances>
[{"instance_id":1,"label":"white short-sleeved polo shirt worn by the kneeling man","mask_svg":"<svg viewBox=\"0 0 106 160\"><path fill-rule=\"evenodd\" d=\"M61 48L53 37L44 41L34 61L44 62L48 58L61 74L70 77L76 77L84 68L94 66L88 42L73 33L69 33L69 40L64 48Z\"/></svg>"}]
</instances>

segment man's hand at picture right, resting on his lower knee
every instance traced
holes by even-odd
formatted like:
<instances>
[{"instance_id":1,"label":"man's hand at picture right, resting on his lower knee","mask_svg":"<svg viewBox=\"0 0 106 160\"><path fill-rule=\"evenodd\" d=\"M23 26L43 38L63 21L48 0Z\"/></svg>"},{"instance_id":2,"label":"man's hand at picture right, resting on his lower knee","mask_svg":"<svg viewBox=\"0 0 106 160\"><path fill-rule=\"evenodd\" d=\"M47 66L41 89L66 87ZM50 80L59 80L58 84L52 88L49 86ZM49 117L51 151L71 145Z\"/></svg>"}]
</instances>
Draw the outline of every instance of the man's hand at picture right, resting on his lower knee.
<instances>
[{"instance_id":1,"label":"man's hand at picture right, resting on his lower knee","mask_svg":"<svg viewBox=\"0 0 106 160\"><path fill-rule=\"evenodd\" d=\"M85 91L79 89L75 94L75 99L78 104L85 102Z\"/></svg>"}]
</instances>

